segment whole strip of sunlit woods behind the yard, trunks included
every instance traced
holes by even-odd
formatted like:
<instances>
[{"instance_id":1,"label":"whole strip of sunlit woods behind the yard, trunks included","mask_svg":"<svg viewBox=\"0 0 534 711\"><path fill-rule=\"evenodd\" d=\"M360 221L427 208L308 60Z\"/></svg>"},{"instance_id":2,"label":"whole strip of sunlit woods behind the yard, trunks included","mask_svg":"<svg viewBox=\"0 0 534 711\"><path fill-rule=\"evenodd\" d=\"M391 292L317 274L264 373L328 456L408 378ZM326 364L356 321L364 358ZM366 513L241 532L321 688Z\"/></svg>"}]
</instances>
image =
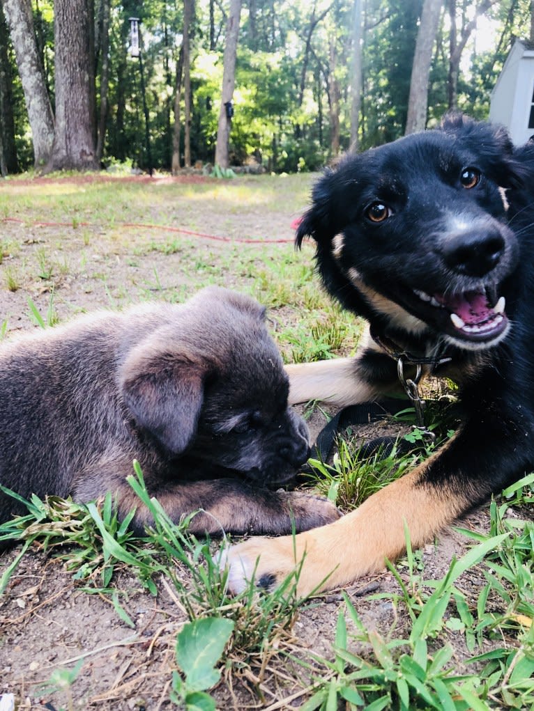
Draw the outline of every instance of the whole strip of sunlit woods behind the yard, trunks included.
<instances>
[{"instance_id":1,"label":"whole strip of sunlit woods behind the yard, trunks included","mask_svg":"<svg viewBox=\"0 0 534 711\"><path fill-rule=\"evenodd\" d=\"M532 15L531 0L0 0L1 174L313 171L447 109L486 118Z\"/></svg>"}]
</instances>

